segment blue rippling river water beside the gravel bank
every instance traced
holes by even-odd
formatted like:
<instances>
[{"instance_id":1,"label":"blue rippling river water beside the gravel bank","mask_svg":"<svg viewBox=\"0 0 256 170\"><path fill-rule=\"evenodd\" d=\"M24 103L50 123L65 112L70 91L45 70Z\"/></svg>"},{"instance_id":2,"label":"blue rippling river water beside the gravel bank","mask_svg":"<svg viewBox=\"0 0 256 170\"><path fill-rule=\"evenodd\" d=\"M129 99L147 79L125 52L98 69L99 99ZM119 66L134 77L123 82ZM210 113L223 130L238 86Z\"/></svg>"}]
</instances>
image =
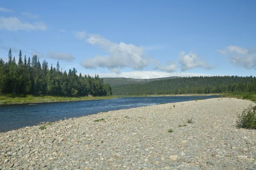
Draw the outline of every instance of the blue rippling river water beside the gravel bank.
<instances>
[{"instance_id":1,"label":"blue rippling river water beside the gravel bank","mask_svg":"<svg viewBox=\"0 0 256 170\"><path fill-rule=\"evenodd\" d=\"M215 97L219 96L122 97L106 100L38 103L36 105L0 105L0 132L38 125L40 122L58 121L99 112Z\"/></svg>"}]
</instances>

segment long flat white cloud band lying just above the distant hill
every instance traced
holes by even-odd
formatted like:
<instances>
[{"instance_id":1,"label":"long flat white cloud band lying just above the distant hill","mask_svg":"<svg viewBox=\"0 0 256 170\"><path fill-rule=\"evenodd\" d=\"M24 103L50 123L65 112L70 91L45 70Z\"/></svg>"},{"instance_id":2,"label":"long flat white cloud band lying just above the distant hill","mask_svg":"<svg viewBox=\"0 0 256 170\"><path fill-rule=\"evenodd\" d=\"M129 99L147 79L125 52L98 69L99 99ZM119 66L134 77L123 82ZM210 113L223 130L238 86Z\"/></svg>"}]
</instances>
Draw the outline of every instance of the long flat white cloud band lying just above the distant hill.
<instances>
[{"instance_id":1,"label":"long flat white cloud band lying just above the distant hill","mask_svg":"<svg viewBox=\"0 0 256 170\"><path fill-rule=\"evenodd\" d=\"M99 77L127 77L134 79L154 79L160 77L193 77L193 76L216 76L212 74L203 74L203 73L166 73L161 71L131 71L131 72L122 72L120 74L115 73L89 73L90 76L95 76L95 74L99 74ZM87 75L87 74L82 74Z\"/></svg>"}]
</instances>

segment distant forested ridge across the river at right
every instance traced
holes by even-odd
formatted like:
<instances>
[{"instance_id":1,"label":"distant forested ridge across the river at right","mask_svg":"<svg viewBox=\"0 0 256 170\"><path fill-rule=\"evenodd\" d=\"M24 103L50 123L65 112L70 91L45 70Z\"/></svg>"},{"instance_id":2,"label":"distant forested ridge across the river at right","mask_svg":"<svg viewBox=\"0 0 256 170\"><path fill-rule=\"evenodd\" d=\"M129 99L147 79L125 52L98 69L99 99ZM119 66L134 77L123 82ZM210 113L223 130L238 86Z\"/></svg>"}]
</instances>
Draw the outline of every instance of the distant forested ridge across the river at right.
<instances>
[{"instance_id":1,"label":"distant forested ridge across the river at right","mask_svg":"<svg viewBox=\"0 0 256 170\"><path fill-rule=\"evenodd\" d=\"M256 92L256 77L180 77L112 87L113 95L212 94Z\"/></svg>"}]
</instances>

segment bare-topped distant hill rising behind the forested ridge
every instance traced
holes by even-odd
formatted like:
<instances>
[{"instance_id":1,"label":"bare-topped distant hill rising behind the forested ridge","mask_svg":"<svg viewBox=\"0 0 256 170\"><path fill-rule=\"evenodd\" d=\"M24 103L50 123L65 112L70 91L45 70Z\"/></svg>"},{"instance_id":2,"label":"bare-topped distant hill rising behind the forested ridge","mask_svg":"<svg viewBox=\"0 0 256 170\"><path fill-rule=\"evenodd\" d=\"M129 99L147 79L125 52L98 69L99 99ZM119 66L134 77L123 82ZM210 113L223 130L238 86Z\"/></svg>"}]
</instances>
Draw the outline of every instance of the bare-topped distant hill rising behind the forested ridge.
<instances>
[{"instance_id":1,"label":"bare-topped distant hill rising behind the forested ridge","mask_svg":"<svg viewBox=\"0 0 256 170\"><path fill-rule=\"evenodd\" d=\"M128 85L128 84L143 84L147 82L152 82L156 80L166 80L166 79L175 79L179 77L163 77L163 78L155 78L155 79L133 79L133 78L125 78L125 77L116 77L116 78L102 78L104 82L108 82L111 87L118 85Z\"/></svg>"}]
</instances>

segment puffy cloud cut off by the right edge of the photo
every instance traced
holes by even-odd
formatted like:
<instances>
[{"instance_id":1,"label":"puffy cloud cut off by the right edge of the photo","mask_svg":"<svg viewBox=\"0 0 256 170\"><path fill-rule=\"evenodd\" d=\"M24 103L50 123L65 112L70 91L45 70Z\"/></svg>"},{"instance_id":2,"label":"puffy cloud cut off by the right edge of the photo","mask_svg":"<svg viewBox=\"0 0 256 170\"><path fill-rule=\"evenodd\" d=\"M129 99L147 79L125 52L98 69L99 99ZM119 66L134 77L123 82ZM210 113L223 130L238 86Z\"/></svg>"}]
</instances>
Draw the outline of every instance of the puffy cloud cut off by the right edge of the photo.
<instances>
[{"instance_id":1,"label":"puffy cloud cut off by the right edge of the photo","mask_svg":"<svg viewBox=\"0 0 256 170\"><path fill-rule=\"evenodd\" d=\"M216 50L221 54L230 54L231 57L227 58L233 65L238 65L246 69L256 68L256 51L255 49L246 49L237 45L230 45L224 48L224 50ZM223 52L221 52L223 51Z\"/></svg>"}]
</instances>

